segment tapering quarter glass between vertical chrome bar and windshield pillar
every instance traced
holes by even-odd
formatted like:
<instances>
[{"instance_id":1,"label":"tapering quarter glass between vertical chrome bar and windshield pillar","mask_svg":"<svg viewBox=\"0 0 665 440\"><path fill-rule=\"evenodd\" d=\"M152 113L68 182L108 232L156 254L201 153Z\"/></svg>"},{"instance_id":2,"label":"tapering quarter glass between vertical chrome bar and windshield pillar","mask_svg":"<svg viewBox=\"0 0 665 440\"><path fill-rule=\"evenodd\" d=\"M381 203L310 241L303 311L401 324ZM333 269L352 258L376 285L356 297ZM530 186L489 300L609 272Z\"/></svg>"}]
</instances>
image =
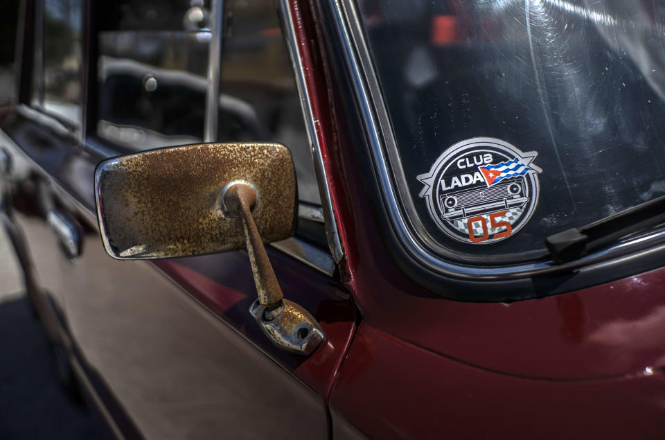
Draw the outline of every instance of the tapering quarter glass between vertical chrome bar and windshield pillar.
<instances>
[{"instance_id":1,"label":"tapering quarter glass between vertical chrome bar and windshield pillar","mask_svg":"<svg viewBox=\"0 0 665 440\"><path fill-rule=\"evenodd\" d=\"M227 0L220 141L274 141L293 155L302 202L321 204L289 53L274 3Z\"/></svg>"}]
</instances>

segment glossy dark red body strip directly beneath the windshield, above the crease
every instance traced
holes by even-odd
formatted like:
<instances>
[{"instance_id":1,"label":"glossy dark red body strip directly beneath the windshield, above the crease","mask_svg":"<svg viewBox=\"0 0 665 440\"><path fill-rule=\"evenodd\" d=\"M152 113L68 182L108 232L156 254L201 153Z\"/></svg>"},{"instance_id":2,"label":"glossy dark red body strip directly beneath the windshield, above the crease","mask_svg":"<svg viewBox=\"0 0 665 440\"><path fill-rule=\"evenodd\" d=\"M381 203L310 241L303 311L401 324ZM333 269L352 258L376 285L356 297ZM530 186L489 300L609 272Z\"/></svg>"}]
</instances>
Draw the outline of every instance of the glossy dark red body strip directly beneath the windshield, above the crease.
<instances>
[{"instance_id":1,"label":"glossy dark red body strip directly beneath the windshield, above the crease","mask_svg":"<svg viewBox=\"0 0 665 440\"><path fill-rule=\"evenodd\" d=\"M608 378L665 365L665 270L544 299L461 303L356 272L366 322L478 367L534 378ZM369 273L368 273L369 272ZM395 272L387 271L391 279ZM415 289L414 289L415 290Z\"/></svg>"}]
</instances>

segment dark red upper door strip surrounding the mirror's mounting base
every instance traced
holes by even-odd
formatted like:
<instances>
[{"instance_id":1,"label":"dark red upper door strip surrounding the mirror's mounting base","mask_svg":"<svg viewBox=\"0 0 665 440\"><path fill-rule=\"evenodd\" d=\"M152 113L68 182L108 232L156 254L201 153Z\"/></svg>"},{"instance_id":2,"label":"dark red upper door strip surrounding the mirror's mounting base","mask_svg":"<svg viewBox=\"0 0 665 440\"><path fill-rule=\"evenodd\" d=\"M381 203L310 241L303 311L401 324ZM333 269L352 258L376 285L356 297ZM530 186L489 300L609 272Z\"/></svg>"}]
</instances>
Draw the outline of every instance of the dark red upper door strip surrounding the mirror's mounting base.
<instances>
[{"instance_id":1,"label":"dark red upper door strip surrounding the mirror's mounting base","mask_svg":"<svg viewBox=\"0 0 665 440\"><path fill-rule=\"evenodd\" d=\"M309 358L276 349L249 315L249 305L256 298L256 289L245 252L154 263L327 400L355 333L353 301L327 277L278 252L269 252L269 255L285 297L310 310L326 332L326 341Z\"/></svg>"}]
</instances>

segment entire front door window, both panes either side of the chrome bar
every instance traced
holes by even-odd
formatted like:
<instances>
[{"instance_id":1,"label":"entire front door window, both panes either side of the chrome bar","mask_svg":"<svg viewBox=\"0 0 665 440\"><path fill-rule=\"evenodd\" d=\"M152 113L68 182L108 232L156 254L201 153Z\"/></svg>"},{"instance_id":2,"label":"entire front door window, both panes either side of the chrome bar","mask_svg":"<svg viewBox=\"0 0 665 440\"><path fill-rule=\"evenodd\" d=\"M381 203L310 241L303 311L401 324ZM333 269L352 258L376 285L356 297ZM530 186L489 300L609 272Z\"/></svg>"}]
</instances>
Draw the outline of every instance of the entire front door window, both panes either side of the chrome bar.
<instances>
[{"instance_id":1,"label":"entire front door window, both panes either side of the chrome bar","mask_svg":"<svg viewBox=\"0 0 665 440\"><path fill-rule=\"evenodd\" d=\"M100 2L92 43L97 104L89 127L119 152L139 151L203 141L206 111L217 111L218 141L287 146L301 211L320 213L312 151L276 6L270 0L220 3L220 96L216 109L206 109L214 78L210 45L218 37L209 21L214 3ZM297 235L327 249L322 215L308 218L301 218Z\"/></svg>"}]
</instances>

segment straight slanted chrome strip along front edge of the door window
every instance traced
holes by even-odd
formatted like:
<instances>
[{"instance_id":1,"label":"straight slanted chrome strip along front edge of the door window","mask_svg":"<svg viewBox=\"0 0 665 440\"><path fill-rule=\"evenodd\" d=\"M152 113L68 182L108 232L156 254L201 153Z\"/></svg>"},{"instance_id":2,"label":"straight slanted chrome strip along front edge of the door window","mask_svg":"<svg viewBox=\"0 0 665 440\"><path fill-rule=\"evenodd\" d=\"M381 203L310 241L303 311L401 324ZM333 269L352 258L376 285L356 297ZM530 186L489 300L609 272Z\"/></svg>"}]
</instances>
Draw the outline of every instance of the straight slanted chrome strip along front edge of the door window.
<instances>
[{"instance_id":1,"label":"straight slanted chrome strip along front edge of the door window","mask_svg":"<svg viewBox=\"0 0 665 440\"><path fill-rule=\"evenodd\" d=\"M312 106L310 105L309 91L305 82L305 71L301 60L299 44L296 39L294 20L291 15L291 8L288 0L279 0L278 6L296 78L296 86L298 87L301 109L303 110L303 117L305 118L305 126L307 127L307 137L312 148L314 166L317 168L317 176L319 177L321 205L323 206L323 216L326 218L326 238L328 238L328 246L330 246L330 252L332 253L333 258L335 258L335 262L339 263L342 261L342 258L344 258L344 247L342 247L342 241L339 239L339 231L337 230L335 209L332 206L332 195L330 194L330 186L328 185L328 175L326 173L326 167L323 164L323 154L321 153L321 145L319 144L319 138L317 137L317 123L314 120Z\"/></svg>"}]
</instances>

